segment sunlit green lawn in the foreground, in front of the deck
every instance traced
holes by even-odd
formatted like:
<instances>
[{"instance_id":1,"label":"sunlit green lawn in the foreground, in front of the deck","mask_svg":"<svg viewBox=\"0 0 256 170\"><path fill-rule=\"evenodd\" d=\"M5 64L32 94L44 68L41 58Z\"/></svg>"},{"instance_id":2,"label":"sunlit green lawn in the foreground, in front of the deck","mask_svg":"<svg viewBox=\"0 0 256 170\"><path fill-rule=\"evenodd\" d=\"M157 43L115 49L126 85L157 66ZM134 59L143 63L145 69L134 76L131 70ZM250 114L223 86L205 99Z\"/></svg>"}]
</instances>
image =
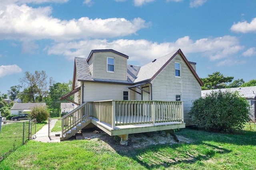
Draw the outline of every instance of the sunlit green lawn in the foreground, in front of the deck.
<instances>
[{"instance_id":1,"label":"sunlit green lawn in the foreground, in front of the deck","mask_svg":"<svg viewBox=\"0 0 256 170\"><path fill-rule=\"evenodd\" d=\"M120 146L113 137L61 143L28 141L4 158L0 169L255 170L255 129L247 124L240 134L221 134L186 128L176 135L194 142L145 148Z\"/></svg>"}]
</instances>

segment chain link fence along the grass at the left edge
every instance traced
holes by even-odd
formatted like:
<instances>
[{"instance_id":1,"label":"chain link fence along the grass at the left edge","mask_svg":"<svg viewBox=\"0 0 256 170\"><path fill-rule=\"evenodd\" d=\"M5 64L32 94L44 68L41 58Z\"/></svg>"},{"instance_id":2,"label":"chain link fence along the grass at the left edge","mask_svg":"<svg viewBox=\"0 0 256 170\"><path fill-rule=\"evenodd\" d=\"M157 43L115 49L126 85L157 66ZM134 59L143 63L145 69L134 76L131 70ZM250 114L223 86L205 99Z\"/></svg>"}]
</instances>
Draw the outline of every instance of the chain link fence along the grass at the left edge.
<instances>
[{"instance_id":1,"label":"chain link fence along the grass at the left edge","mask_svg":"<svg viewBox=\"0 0 256 170\"><path fill-rule=\"evenodd\" d=\"M26 121L2 120L0 125L0 160L35 137L35 133L36 119Z\"/></svg>"}]
</instances>

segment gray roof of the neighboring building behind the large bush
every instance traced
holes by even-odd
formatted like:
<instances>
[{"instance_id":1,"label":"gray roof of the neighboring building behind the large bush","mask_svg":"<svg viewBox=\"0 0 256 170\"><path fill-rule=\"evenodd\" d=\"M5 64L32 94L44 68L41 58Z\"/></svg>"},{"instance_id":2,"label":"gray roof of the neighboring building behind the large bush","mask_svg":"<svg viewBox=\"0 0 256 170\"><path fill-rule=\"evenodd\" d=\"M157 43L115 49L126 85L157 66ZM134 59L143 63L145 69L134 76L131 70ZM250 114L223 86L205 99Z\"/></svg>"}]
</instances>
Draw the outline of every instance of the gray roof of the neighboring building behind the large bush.
<instances>
[{"instance_id":1,"label":"gray roof of the neighboring building behind the large bush","mask_svg":"<svg viewBox=\"0 0 256 170\"><path fill-rule=\"evenodd\" d=\"M256 98L256 86L250 87L239 87L239 88L222 88L222 89L214 89L214 90L202 90L201 96L204 97L206 94L210 94L212 91L219 91L222 92L226 90L230 90L231 92L238 91L241 96L244 96L247 99L255 99Z\"/></svg>"}]
</instances>

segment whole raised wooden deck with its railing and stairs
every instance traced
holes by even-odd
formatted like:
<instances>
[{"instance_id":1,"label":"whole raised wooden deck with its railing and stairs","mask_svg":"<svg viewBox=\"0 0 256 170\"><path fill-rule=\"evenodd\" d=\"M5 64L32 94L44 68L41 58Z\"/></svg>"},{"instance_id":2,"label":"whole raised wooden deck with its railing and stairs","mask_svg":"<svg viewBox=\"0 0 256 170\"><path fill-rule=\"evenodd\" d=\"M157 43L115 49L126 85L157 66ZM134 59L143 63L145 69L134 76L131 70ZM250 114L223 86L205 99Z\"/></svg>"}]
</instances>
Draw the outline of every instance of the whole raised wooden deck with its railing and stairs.
<instances>
[{"instance_id":1,"label":"whole raised wooden deck with its railing and stairs","mask_svg":"<svg viewBox=\"0 0 256 170\"><path fill-rule=\"evenodd\" d=\"M62 138L81 122L92 123L111 136L126 135L127 139L133 133L185 128L183 102L176 101L86 102L62 117Z\"/></svg>"}]
</instances>

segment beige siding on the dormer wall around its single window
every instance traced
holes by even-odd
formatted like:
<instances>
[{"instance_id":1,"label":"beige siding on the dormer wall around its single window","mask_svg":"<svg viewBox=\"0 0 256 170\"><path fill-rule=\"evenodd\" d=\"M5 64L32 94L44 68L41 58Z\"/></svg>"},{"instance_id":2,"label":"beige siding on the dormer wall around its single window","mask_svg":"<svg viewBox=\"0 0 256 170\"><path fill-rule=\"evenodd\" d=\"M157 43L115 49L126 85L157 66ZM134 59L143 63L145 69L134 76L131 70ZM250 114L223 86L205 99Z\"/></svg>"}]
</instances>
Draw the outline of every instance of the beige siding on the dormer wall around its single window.
<instances>
[{"instance_id":1,"label":"beige siding on the dormer wall around its single window","mask_svg":"<svg viewBox=\"0 0 256 170\"><path fill-rule=\"evenodd\" d=\"M115 72L107 72L107 57L115 58ZM111 52L94 53L93 76L99 79L126 80L127 59Z\"/></svg>"}]
</instances>

